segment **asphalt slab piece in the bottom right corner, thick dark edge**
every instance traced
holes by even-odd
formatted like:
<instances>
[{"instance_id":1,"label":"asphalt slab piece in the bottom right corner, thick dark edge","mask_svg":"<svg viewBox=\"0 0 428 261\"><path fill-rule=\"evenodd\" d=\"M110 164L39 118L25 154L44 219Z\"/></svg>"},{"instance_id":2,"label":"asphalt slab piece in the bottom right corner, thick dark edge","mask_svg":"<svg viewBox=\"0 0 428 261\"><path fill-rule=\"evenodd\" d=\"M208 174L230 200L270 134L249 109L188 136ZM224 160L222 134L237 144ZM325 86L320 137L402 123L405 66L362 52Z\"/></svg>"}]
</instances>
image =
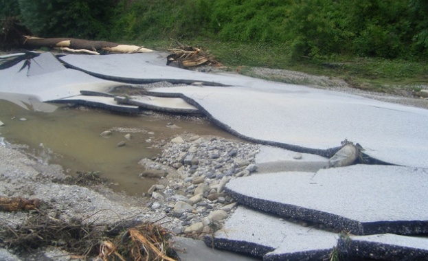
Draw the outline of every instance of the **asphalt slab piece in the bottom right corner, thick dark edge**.
<instances>
[{"instance_id":1,"label":"asphalt slab piece in the bottom right corner, thick dark edge","mask_svg":"<svg viewBox=\"0 0 428 261\"><path fill-rule=\"evenodd\" d=\"M339 239L339 256L370 260L427 260L428 238L396 234L344 236Z\"/></svg>"}]
</instances>

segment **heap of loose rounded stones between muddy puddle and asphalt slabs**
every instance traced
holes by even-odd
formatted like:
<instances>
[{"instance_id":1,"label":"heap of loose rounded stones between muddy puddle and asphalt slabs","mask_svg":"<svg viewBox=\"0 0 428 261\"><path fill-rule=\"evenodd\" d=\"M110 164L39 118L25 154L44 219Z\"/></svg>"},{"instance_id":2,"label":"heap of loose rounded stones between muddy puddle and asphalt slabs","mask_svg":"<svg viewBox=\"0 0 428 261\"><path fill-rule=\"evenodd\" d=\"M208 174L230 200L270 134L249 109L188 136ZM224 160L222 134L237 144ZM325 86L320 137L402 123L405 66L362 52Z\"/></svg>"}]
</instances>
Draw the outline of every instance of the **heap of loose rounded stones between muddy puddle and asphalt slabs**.
<instances>
[{"instance_id":1,"label":"heap of loose rounded stones between muddy puddle and asphalt slabs","mask_svg":"<svg viewBox=\"0 0 428 261\"><path fill-rule=\"evenodd\" d=\"M212 234L237 204L225 193L225 184L257 170L254 157L259 148L218 137L174 137L159 157L139 162L146 168L142 176L161 178L148 191L149 207L181 220L175 234L194 238Z\"/></svg>"}]
</instances>

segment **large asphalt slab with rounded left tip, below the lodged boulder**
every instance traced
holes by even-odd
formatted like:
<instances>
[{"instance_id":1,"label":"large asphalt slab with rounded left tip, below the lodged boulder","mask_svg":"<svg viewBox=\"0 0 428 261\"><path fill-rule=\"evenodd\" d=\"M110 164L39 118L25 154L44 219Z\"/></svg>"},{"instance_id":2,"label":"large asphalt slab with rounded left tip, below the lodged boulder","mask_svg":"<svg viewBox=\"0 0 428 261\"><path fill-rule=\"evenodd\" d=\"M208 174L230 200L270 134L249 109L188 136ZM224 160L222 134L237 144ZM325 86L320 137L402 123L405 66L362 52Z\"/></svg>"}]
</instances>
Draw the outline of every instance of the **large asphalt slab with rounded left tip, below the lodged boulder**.
<instances>
[{"instance_id":1,"label":"large asphalt slab with rounded left tip, below the lodged boulder","mask_svg":"<svg viewBox=\"0 0 428 261\"><path fill-rule=\"evenodd\" d=\"M428 233L423 168L355 165L255 174L229 181L225 189L244 205L351 234Z\"/></svg>"}]
</instances>

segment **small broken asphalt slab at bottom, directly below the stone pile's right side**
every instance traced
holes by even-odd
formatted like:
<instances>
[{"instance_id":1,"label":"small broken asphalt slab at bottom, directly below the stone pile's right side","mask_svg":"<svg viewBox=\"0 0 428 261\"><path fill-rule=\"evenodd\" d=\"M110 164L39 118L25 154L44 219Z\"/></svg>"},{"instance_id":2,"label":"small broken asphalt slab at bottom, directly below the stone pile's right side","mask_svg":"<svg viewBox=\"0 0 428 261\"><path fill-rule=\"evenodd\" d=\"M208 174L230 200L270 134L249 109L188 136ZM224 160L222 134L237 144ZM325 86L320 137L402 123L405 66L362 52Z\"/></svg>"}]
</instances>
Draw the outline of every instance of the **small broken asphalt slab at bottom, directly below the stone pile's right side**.
<instances>
[{"instance_id":1,"label":"small broken asphalt slab at bottom, directly below the stone pile's right side","mask_svg":"<svg viewBox=\"0 0 428 261\"><path fill-rule=\"evenodd\" d=\"M263 257L263 260L322 260L337 245L339 236L313 227L302 227L278 216L239 206L208 247Z\"/></svg>"}]
</instances>

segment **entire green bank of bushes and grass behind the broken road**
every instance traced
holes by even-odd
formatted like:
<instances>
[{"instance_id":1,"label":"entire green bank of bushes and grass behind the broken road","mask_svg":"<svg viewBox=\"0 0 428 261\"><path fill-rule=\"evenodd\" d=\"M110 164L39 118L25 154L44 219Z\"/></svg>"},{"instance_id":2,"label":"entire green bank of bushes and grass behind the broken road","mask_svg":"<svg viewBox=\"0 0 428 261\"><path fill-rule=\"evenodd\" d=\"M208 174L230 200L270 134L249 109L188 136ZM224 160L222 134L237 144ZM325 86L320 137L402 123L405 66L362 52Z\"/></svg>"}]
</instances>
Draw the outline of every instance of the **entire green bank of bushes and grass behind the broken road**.
<instances>
[{"instance_id":1,"label":"entire green bank of bushes and grass behind the broken road","mask_svg":"<svg viewBox=\"0 0 428 261\"><path fill-rule=\"evenodd\" d=\"M177 39L224 65L292 69L388 91L428 82L425 0L14 0L42 37L167 49Z\"/></svg>"}]
</instances>

